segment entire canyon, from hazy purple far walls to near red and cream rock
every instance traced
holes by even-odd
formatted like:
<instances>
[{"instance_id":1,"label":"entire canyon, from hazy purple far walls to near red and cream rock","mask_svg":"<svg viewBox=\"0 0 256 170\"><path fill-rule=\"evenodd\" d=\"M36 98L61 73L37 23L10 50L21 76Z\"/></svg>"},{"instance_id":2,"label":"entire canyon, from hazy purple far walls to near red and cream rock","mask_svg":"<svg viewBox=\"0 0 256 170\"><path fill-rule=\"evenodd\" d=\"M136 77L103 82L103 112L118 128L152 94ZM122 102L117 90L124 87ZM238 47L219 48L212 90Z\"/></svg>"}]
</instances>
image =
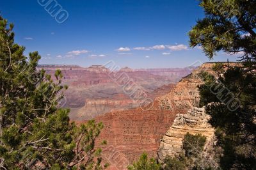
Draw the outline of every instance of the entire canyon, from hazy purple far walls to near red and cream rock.
<instances>
[{"instance_id":1,"label":"entire canyon, from hazy purple far walls to near red and cream rock","mask_svg":"<svg viewBox=\"0 0 256 170\"><path fill-rule=\"evenodd\" d=\"M137 103L132 105L132 98L127 97L124 91L122 93L122 87L114 85L114 82L111 82L113 80L109 78L93 81L94 85L83 84L85 81L79 80L79 77L86 75L86 68L63 69L64 75L68 72L68 76L73 77L70 80L64 76L64 82L71 85L71 90L67 91L67 98L71 102L67 102L67 106L72 106L73 111L77 112L76 117L71 112L72 120L77 123L95 118L104 124L96 146L102 148L103 162L111 165L109 169L126 169L127 165L137 160L143 152L148 153L149 157L158 157L161 161L166 155L180 153L182 137L186 132L202 133L208 137L207 141L212 141L214 130L205 124L208 117L198 108L200 95L197 87L203 83L199 73L214 74L213 65L214 63L204 63L193 70L185 68L186 71L181 73L180 69L175 69L177 72L172 69L170 70L173 72L168 69L122 69L121 72L135 79L140 86L147 89L148 97L154 99L146 107L140 106L141 100L136 100ZM81 75L75 77L70 73L71 70ZM51 74L51 70L47 72ZM104 77L106 72L109 70L92 74ZM171 72L170 77L166 76L168 72ZM179 82L178 75L183 75ZM91 115L88 112L91 112ZM100 145L103 140L108 142L106 146Z\"/></svg>"}]
</instances>

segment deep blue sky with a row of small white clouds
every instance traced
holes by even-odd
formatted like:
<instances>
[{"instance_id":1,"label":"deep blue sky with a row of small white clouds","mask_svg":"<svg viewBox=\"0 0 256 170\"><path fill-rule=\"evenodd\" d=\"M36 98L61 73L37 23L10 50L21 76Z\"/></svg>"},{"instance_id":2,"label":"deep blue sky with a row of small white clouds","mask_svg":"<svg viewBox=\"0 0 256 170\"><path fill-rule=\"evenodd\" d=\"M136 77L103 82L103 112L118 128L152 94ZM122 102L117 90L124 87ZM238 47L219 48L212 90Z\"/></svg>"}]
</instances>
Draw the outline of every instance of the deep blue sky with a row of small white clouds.
<instances>
[{"instance_id":1,"label":"deep blue sky with a row of small white clouds","mask_svg":"<svg viewBox=\"0 0 256 170\"><path fill-rule=\"evenodd\" d=\"M189 29L204 17L196 0L54 1L68 13L62 24L38 1L2 1L0 12L15 24L15 42L26 54L40 53L40 64L90 66L111 60L121 67L173 68L209 61L202 50L188 47ZM237 56L220 52L212 61L227 58Z\"/></svg>"}]
</instances>

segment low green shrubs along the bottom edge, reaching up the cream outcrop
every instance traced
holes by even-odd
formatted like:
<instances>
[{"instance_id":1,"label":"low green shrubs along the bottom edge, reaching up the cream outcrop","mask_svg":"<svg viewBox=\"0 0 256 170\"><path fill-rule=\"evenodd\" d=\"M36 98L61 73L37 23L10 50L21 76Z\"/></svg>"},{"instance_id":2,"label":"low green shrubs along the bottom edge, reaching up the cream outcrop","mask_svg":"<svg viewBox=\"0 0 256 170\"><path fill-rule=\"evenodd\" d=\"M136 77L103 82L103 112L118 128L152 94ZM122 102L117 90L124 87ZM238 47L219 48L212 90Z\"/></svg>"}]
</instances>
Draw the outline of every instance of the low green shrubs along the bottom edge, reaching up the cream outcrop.
<instances>
[{"instance_id":1,"label":"low green shrubs along the bottom edge, reaching up the cream outcrop","mask_svg":"<svg viewBox=\"0 0 256 170\"><path fill-rule=\"evenodd\" d=\"M148 159L146 153L143 153L138 160L128 167L129 170L150 169L150 170L183 170L183 169L211 169L210 166L203 166L204 161L200 155L204 149L206 137L201 134L186 134L182 141L182 149L184 154L176 157L166 157L163 164L157 163L154 158Z\"/></svg>"}]
</instances>

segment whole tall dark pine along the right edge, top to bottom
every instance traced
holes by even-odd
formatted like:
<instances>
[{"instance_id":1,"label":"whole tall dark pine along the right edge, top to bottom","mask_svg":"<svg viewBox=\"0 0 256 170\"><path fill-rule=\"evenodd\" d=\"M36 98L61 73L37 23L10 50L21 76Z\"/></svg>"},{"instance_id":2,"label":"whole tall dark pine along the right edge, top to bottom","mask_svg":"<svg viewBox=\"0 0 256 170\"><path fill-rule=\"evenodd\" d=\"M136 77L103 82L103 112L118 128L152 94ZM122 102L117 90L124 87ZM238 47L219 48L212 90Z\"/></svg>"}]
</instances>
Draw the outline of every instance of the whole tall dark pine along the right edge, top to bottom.
<instances>
[{"instance_id":1,"label":"whole tall dark pine along the right edge, top to bottom","mask_svg":"<svg viewBox=\"0 0 256 170\"><path fill-rule=\"evenodd\" d=\"M201 0L205 18L189 32L190 45L212 59L219 51L241 54L236 66L214 66L220 77L203 73L200 105L218 128L223 169L256 169L256 1ZM225 68L225 69L224 69Z\"/></svg>"}]
</instances>

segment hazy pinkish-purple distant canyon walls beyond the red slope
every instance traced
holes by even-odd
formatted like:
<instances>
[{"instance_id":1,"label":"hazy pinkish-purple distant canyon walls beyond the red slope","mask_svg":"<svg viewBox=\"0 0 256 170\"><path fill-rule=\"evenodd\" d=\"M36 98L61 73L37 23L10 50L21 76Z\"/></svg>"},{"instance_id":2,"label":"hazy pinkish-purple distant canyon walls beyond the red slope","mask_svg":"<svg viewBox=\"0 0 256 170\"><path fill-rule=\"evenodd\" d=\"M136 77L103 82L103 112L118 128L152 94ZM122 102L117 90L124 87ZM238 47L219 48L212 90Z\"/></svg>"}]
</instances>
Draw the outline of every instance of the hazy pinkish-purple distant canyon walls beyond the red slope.
<instances>
[{"instance_id":1,"label":"hazy pinkish-purple distant canyon walls beyond the red slope","mask_svg":"<svg viewBox=\"0 0 256 170\"><path fill-rule=\"evenodd\" d=\"M90 120L106 112L124 111L140 105L138 100L125 94L124 87L117 82L119 79L113 80L113 72L105 66L84 68L77 65L38 65L37 69L44 69L53 79L55 71L61 70L62 83L68 85L63 107L71 109L71 120ZM195 67L136 70L125 67L118 70L118 74L129 77L136 87L143 89L143 93L154 100L168 93L177 81L193 69Z\"/></svg>"}]
</instances>

